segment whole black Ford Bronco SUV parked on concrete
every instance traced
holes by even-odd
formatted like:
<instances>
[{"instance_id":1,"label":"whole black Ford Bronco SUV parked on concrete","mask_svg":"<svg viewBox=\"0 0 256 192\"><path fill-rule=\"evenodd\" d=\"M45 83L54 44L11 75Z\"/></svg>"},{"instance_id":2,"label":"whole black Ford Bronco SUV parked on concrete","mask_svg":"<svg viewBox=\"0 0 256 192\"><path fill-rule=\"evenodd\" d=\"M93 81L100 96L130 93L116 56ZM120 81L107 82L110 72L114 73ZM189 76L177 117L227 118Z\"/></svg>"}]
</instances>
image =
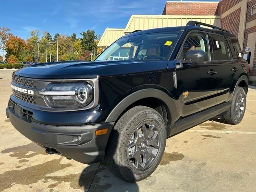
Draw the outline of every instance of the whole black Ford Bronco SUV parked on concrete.
<instances>
[{"instance_id":1,"label":"whole black Ford Bronco SUV parked on concrete","mask_svg":"<svg viewBox=\"0 0 256 192\"><path fill-rule=\"evenodd\" d=\"M154 172L166 138L217 115L241 122L248 64L230 32L190 21L132 32L93 62L28 66L11 87L6 114L20 133L136 182Z\"/></svg>"}]
</instances>

